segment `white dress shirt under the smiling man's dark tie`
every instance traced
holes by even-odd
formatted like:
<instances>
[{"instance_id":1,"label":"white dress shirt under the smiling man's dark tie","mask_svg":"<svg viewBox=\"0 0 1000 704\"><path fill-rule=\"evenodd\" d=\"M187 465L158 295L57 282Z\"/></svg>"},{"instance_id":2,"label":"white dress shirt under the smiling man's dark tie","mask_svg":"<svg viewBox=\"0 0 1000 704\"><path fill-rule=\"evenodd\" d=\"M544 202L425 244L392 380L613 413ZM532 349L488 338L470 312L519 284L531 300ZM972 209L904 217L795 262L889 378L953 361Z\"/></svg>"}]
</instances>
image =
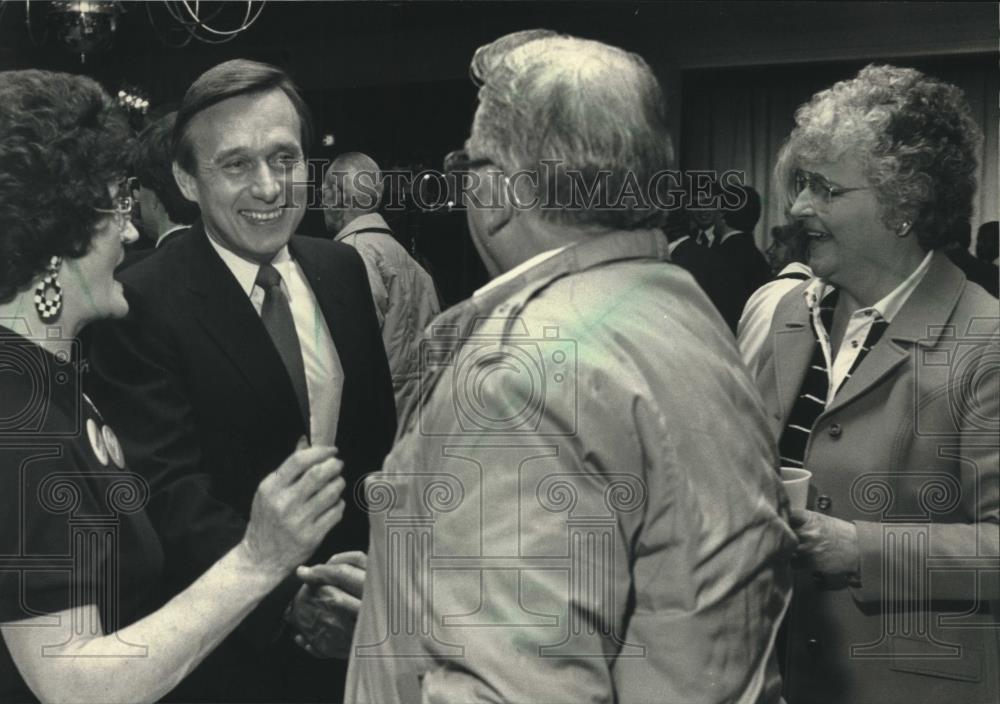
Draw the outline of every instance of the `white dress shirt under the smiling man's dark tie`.
<instances>
[{"instance_id":1,"label":"white dress shirt under the smiling man's dark tie","mask_svg":"<svg viewBox=\"0 0 1000 704\"><path fill-rule=\"evenodd\" d=\"M211 237L208 241L250 298L257 315L260 315L264 305L264 289L255 283L260 265L234 254ZM316 296L309 288L302 269L288 253L287 246L274 255L271 264L281 274L281 290L288 297L295 333L302 350L306 389L309 393L309 437L313 445L333 445L337 437L340 399L344 390L344 368L340 364L340 356L316 302Z\"/></svg>"}]
</instances>

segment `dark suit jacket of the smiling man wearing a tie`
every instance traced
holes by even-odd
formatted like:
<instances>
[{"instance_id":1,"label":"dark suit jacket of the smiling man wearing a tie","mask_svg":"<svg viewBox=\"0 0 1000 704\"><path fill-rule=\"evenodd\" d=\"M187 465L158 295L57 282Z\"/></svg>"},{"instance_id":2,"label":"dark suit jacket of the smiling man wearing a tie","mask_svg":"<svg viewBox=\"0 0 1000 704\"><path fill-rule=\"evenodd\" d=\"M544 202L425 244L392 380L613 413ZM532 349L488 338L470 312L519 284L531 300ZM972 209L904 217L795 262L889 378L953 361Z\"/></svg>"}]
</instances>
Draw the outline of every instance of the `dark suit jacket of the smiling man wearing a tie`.
<instances>
[{"instance_id":1,"label":"dark suit jacket of the smiling man wearing a tie","mask_svg":"<svg viewBox=\"0 0 1000 704\"><path fill-rule=\"evenodd\" d=\"M344 370L337 447L347 511L314 556L367 546L353 483L380 469L395 433L392 383L364 264L346 245L293 237ZM260 480L307 433L288 373L246 293L196 223L121 273L130 312L96 326L87 387L152 488L147 511L176 593L241 538ZM294 578L181 685L201 701L340 696L330 661L281 632ZM220 595L225 598L225 595ZM334 668L336 669L336 668ZM311 688L312 685L312 688Z\"/></svg>"}]
</instances>

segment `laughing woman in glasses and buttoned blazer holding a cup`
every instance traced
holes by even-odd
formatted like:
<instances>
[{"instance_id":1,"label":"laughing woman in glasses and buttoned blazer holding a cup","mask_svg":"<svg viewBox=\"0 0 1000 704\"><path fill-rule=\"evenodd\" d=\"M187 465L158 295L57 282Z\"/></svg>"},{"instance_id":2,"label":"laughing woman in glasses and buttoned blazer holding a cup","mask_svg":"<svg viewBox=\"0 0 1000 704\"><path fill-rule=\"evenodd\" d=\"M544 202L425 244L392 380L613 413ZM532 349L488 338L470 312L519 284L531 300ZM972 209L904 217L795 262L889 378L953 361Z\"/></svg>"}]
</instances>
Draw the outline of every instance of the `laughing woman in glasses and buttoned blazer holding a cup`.
<instances>
[{"instance_id":1,"label":"laughing woman in glasses and buttoned blazer holding a cup","mask_svg":"<svg viewBox=\"0 0 1000 704\"><path fill-rule=\"evenodd\" d=\"M776 176L815 278L757 369L781 464L812 472L786 699L997 701L1000 311L940 251L980 131L957 88L892 66L795 119Z\"/></svg>"}]
</instances>

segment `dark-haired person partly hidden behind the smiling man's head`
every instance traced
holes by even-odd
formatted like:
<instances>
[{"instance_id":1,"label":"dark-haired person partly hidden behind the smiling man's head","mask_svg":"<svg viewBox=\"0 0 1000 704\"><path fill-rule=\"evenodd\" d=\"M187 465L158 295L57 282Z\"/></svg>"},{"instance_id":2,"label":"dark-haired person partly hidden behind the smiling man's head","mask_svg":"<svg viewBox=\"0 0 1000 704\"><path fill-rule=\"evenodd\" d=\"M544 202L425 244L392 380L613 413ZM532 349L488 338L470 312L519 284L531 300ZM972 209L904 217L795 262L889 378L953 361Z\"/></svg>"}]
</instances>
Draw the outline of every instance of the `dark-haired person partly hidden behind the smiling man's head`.
<instances>
[{"instance_id":1,"label":"dark-haired person partly hidden behind the smiling man's head","mask_svg":"<svg viewBox=\"0 0 1000 704\"><path fill-rule=\"evenodd\" d=\"M198 217L198 206L181 194L174 180L176 117L176 112L167 113L147 126L136 139L129 165L138 186L136 202L141 215L142 246L126 248L122 269L145 259L169 240L187 232Z\"/></svg>"}]
</instances>

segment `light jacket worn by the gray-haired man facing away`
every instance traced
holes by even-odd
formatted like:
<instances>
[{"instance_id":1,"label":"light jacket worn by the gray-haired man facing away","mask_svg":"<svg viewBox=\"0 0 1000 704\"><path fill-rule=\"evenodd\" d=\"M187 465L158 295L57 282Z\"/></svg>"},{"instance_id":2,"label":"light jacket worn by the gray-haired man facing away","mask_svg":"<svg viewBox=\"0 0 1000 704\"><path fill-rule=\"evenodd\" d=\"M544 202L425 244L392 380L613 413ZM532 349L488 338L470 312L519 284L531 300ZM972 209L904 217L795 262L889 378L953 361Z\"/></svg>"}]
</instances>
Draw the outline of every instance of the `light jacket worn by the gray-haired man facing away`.
<instances>
[{"instance_id":1,"label":"light jacket worn by the gray-haired man facing away","mask_svg":"<svg viewBox=\"0 0 1000 704\"><path fill-rule=\"evenodd\" d=\"M775 702L776 455L721 317L654 231L438 316L367 484L349 702Z\"/></svg>"}]
</instances>

